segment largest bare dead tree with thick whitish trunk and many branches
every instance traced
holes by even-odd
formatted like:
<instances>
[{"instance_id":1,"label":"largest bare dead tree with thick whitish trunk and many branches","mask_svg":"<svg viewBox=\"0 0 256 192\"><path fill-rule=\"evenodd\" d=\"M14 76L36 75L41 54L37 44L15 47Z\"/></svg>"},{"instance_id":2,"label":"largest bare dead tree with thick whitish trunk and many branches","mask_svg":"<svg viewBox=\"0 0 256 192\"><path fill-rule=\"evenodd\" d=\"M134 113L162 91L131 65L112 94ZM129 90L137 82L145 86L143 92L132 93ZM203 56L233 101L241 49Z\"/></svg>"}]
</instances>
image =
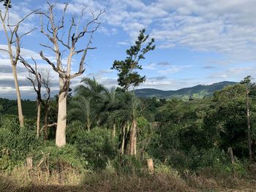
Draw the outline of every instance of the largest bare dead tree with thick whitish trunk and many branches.
<instances>
[{"instance_id":1,"label":"largest bare dead tree with thick whitish trunk and many branches","mask_svg":"<svg viewBox=\"0 0 256 192\"><path fill-rule=\"evenodd\" d=\"M84 69L84 61L86 59L86 55L88 50L94 50L96 47L91 47L93 34L97 31L99 26L99 16L104 13L104 11L99 11L97 14L91 13L91 20L87 22L83 28L80 30L80 22L75 22L75 18L72 18L69 23L69 28L64 26L65 14L67 11L68 4L65 4L63 14L60 20L56 20L56 15L53 12L54 5L50 4L48 1L48 12L37 12L37 14L41 15L42 18L47 20L46 30L41 23L41 33L45 35L50 40L51 46L42 45L42 47L48 48L55 54L56 64L50 60L43 51L40 52L40 55L44 61L46 61L59 75L59 109L58 109L58 120L57 120L57 129L56 129L56 145L61 147L66 144L66 115L67 115L67 95L69 91L70 81L83 74ZM81 14L81 18L83 18L83 12ZM80 19L82 20L82 19ZM67 32L67 40L64 40L64 35L60 37L60 34L64 34ZM88 41L83 44L85 45L81 49L78 49L76 45L78 42L83 40L83 37L88 37ZM86 40L85 40L86 41ZM64 68L62 56L64 53L61 52L61 47L68 52L67 56L67 64ZM80 56L79 69L78 72L71 74L71 66L72 59L75 55Z\"/></svg>"}]
</instances>

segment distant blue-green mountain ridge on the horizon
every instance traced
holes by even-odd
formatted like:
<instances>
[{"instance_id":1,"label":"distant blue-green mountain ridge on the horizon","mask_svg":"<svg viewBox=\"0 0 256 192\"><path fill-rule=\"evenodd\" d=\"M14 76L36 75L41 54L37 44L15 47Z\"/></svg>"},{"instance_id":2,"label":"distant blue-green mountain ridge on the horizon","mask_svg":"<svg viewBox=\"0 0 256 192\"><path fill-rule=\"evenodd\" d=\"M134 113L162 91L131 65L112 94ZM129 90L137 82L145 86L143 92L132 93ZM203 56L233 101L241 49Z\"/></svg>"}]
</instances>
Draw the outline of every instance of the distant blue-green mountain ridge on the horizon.
<instances>
[{"instance_id":1,"label":"distant blue-green mountain ridge on the horizon","mask_svg":"<svg viewBox=\"0 0 256 192\"><path fill-rule=\"evenodd\" d=\"M159 89L154 88L142 88L135 91L135 94L139 97L154 97L157 98L169 98L169 97L176 97L181 99L189 99L191 96L192 98L203 98L204 96L211 96L214 91L222 90L227 85L234 85L238 82L230 82L230 81L223 81L223 82L216 82L211 85L196 85L192 88L181 88L177 91L162 91Z\"/></svg>"}]
</instances>

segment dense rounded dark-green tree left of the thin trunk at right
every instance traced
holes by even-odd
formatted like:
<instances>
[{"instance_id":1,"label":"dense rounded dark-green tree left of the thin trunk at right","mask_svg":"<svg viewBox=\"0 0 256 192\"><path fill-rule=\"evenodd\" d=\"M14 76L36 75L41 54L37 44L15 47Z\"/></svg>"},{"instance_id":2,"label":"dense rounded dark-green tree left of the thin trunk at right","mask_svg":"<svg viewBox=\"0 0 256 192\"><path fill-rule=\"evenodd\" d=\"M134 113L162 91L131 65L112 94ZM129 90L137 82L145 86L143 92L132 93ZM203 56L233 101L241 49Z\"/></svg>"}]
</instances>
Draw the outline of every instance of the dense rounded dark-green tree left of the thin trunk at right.
<instances>
[{"instance_id":1,"label":"dense rounded dark-green tree left of the thin trunk at right","mask_svg":"<svg viewBox=\"0 0 256 192\"><path fill-rule=\"evenodd\" d=\"M204 120L204 129L223 150L232 147L237 157L245 157L247 150L246 105L244 85L227 86L214 93L211 105Z\"/></svg>"}]
</instances>

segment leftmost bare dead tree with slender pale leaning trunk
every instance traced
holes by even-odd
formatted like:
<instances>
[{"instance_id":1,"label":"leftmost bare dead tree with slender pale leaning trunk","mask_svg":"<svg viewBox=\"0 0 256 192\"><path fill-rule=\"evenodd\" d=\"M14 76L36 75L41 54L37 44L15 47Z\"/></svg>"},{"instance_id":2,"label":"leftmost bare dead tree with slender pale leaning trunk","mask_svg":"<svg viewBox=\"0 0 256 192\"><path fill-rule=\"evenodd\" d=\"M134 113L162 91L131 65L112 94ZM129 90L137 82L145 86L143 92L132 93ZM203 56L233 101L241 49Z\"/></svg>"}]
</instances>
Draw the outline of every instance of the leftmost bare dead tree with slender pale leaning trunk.
<instances>
[{"instance_id":1,"label":"leftmost bare dead tree with slender pale leaning trunk","mask_svg":"<svg viewBox=\"0 0 256 192\"><path fill-rule=\"evenodd\" d=\"M30 15L33 15L34 12L37 12L39 9L30 12L28 15L23 17L21 20L18 21L18 23L11 25L10 24L10 16L9 16L9 8L10 8L10 0L4 1L5 4L5 10L2 12L0 10L0 19L1 24L4 28L4 35L7 40L7 49L0 49L4 52L8 53L10 56L10 63L12 65L12 75L15 82L15 91L17 95L17 103L18 103L18 118L20 122L20 126L24 126L24 118L23 118L23 112L22 112L22 105L21 105L21 97L20 97L20 87L18 83L18 75L17 75L17 64L18 64L18 58L20 56L20 39L22 39L27 34L30 34L31 31L34 31L35 28L33 28L30 31L27 31L21 35L18 34L18 30L20 28L20 25L26 20L26 18L29 18ZM15 51L12 50L12 47L15 47Z\"/></svg>"}]
</instances>

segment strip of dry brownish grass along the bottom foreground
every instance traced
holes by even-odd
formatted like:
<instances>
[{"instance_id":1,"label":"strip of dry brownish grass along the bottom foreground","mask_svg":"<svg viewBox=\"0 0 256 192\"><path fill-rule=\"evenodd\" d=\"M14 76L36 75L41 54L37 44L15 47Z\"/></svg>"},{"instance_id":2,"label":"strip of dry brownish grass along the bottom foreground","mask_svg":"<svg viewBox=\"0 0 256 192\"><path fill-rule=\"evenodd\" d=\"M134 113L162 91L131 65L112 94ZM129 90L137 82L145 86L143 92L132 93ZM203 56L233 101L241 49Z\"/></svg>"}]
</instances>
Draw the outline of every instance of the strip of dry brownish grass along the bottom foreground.
<instances>
[{"instance_id":1,"label":"strip of dry brownish grass along the bottom foreground","mask_svg":"<svg viewBox=\"0 0 256 192\"><path fill-rule=\"evenodd\" d=\"M109 172L78 174L71 170L61 176L24 167L0 174L0 191L253 191L255 180L206 178L187 174L118 175ZM227 185L227 183L229 183Z\"/></svg>"}]
</instances>

